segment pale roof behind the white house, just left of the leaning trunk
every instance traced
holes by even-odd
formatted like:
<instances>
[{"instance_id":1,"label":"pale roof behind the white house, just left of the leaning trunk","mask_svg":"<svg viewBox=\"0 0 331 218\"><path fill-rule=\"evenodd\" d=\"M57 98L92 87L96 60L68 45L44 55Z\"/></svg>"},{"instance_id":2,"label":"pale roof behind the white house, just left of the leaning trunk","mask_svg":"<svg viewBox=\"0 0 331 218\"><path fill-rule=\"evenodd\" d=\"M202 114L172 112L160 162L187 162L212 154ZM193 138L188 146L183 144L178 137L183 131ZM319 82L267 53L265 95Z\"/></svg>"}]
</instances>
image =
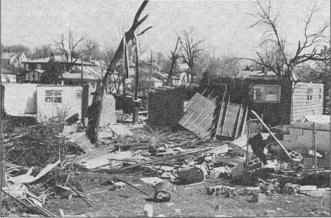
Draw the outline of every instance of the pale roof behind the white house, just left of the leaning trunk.
<instances>
[{"instance_id":1,"label":"pale roof behind the white house, just left of the leaning trunk","mask_svg":"<svg viewBox=\"0 0 331 218\"><path fill-rule=\"evenodd\" d=\"M105 70L102 71L98 66L84 66L83 67L83 79L84 80L100 80L105 74ZM71 72L66 71L62 75L63 79L80 80L81 79L81 66L75 66Z\"/></svg>"}]
</instances>

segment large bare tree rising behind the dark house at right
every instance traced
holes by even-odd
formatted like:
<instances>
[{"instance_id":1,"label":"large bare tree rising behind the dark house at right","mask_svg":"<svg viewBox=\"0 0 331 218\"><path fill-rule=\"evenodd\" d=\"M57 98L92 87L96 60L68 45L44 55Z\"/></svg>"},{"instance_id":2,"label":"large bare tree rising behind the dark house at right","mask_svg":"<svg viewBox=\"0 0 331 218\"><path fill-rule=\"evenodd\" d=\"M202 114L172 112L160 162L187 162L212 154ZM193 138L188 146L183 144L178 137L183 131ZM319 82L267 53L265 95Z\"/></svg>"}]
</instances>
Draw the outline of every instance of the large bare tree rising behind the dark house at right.
<instances>
[{"instance_id":1,"label":"large bare tree rising behind the dark house at right","mask_svg":"<svg viewBox=\"0 0 331 218\"><path fill-rule=\"evenodd\" d=\"M324 24L318 31L308 33L308 27L311 23L312 17L318 12L316 4L313 6L308 19L305 21L304 41L298 41L296 51L294 53L286 50L286 40L282 37L280 30L277 26L278 17L273 16L270 12L271 2L269 1L268 7L264 8L259 1L257 5L260 12L251 14L258 20L251 25L265 27L262 34L261 46L265 48L265 52L257 52L258 60L251 58L243 58L246 60L254 61L255 63L272 70L278 77L291 78L293 67L297 64L304 63L309 60L323 61L325 57L323 53L318 52L316 46L322 39L324 39L324 31L329 24ZM310 50L310 51L307 51Z\"/></svg>"}]
</instances>

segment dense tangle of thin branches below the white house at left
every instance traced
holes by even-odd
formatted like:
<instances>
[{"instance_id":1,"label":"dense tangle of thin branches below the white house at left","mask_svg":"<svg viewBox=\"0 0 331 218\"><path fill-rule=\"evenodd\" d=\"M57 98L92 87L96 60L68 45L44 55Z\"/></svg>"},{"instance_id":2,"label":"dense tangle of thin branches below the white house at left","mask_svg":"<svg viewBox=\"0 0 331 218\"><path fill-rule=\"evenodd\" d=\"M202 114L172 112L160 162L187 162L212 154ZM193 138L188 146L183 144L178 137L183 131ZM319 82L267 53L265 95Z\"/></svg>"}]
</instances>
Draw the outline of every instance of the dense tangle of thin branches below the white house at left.
<instances>
[{"instance_id":1,"label":"dense tangle of thin branches below the white house at left","mask_svg":"<svg viewBox=\"0 0 331 218\"><path fill-rule=\"evenodd\" d=\"M43 167L55 162L70 152L62 135L63 125L63 122L50 121L3 134L4 160L25 167Z\"/></svg>"}]
</instances>

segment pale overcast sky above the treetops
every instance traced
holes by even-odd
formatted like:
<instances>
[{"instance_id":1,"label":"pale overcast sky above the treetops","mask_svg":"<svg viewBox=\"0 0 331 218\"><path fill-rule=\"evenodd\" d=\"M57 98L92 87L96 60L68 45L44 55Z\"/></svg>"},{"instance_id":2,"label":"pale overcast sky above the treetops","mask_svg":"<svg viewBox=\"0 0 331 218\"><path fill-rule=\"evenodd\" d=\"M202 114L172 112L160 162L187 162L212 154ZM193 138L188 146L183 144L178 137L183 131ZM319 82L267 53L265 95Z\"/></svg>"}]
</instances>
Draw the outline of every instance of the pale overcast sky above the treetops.
<instances>
[{"instance_id":1,"label":"pale overcast sky above the treetops","mask_svg":"<svg viewBox=\"0 0 331 218\"><path fill-rule=\"evenodd\" d=\"M329 0L272 1L273 13L279 14L279 28L294 48L303 39L304 21L314 3L320 9L310 30L330 21ZM267 5L266 2L262 2ZM2 44L23 44L31 48L52 43L52 37L72 29L78 38L84 35L101 44L117 48L123 31L128 30L141 1L111 0L2 0ZM151 1L149 14L141 29L152 25L139 37L141 46L169 55L176 32L195 29L197 39L217 55L255 57L262 29L248 28L256 19L254 1ZM329 35L330 30L328 29Z\"/></svg>"}]
</instances>

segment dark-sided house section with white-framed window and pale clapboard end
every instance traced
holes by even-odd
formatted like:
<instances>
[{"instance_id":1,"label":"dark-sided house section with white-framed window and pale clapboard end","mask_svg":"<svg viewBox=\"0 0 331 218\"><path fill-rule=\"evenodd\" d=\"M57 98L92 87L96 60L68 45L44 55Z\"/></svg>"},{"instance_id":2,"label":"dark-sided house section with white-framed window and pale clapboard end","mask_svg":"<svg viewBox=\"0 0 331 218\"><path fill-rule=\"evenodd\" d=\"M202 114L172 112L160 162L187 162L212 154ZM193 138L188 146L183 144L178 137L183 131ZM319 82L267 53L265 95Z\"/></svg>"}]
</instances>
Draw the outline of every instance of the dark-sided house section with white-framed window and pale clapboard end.
<instances>
[{"instance_id":1,"label":"dark-sided house section with white-framed window and pale clapboard end","mask_svg":"<svg viewBox=\"0 0 331 218\"><path fill-rule=\"evenodd\" d=\"M223 78L231 99L247 104L268 125L290 124L307 115L323 113L323 84L277 78L273 72L243 70Z\"/></svg>"}]
</instances>

